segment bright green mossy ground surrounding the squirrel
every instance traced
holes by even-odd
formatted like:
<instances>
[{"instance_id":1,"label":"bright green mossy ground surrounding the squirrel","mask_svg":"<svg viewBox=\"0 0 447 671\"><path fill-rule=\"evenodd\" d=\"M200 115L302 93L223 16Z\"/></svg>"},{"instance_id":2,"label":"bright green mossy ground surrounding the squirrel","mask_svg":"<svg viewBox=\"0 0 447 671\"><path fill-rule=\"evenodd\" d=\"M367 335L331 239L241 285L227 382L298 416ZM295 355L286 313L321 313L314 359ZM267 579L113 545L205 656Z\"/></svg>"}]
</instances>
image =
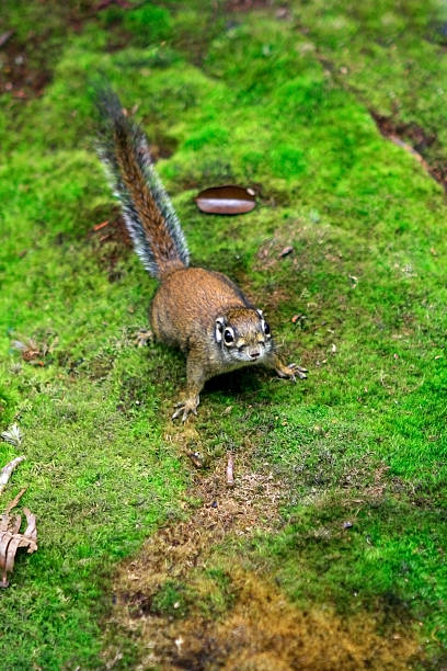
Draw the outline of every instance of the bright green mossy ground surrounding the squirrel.
<instances>
[{"instance_id":1,"label":"bright green mossy ground surrounding the squirrel","mask_svg":"<svg viewBox=\"0 0 447 671\"><path fill-rule=\"evenodd\" d=\"M116 218L92 143L98 77L164 157L194 263L242 284L310 369L296 386L245 372L203 395L195 430L210 463L229 447L245 458L249 437L245 468L271 469L284 501L274 532L229 534L207 570L227 576L243 557L297 609L373 614L383 636L403 623L420 663L440 667L447 208L370 112L423 128L435 139L419 150L445 166L444 5L61 4L7 2L1 24L15 31L0 52L1 427L25 434L9 493L28 485L39 534L1 594L4 667L101 667L117 562L197 504L167 436L183 360L133 340L156 283L112 228L94 231ZM18 53L24 72L11 70ZM260 206L200 215L196 191L228 181L254 185ZM11 349L25 338L57 346L33 365ZM15 454L0 444L1 464ZM227 591L209 621L238 607ZM187 617L191 589L175 581L159 610L173 594ZM136 663L138 645L119 636Z\"/></svg>"}]
</instances>

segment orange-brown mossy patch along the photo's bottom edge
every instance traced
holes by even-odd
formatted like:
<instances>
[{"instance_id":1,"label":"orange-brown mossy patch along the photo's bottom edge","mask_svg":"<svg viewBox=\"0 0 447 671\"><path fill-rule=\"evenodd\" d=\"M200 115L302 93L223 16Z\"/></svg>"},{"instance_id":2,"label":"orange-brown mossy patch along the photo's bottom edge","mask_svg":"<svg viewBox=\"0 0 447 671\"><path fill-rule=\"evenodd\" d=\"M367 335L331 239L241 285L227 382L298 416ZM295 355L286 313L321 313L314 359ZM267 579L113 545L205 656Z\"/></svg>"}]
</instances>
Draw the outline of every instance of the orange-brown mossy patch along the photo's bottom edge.
<instances>
[{"instance_id":1,"label":"orange-brown mossy patch along the photo's bottom edge","mask_svg":"<svg viewBox=\"0 0 447 671\"><path fill-rule=\"evenodd\" d=\"M162 660L163 669L172 671L403 670L420 661L411 632L393 629L379 636L371 616L343 619L329 609L299 610L265 577L244 571L236 562L226 577L230 577L233 605L215 621L199 610L174 619L140 609L140 649L151 644L142 668ZM135 572L133 579L137 579ZM196 579L192 587L199 603L209 584ZM141 592L138 598L145 601ZM130 616L125 626L135 629L135 624Z\"/></svg>"}]
</instances>

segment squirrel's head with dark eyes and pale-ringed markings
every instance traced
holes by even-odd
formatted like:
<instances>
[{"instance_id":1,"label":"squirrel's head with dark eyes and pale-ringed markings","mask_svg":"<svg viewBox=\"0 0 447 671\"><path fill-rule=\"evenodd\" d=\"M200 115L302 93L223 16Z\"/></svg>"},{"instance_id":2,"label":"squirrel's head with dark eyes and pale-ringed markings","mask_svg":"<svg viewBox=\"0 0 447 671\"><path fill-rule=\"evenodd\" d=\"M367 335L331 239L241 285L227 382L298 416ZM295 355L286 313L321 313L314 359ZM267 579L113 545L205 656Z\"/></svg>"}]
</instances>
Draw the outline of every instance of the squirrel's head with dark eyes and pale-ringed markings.
<instances>
[{"instance_id":1,"label":"squirrel's head with dark eyes and pale-ringed markings","mask_svg":"<svg viewBox=\"0 0 447 671\"><path fill-rule=\"evenodd\" d=\"M215 338L229 363L260 363L273 350L270 326L254 308L233 308L219 316Z\"/></svg>"}]
</instances>

